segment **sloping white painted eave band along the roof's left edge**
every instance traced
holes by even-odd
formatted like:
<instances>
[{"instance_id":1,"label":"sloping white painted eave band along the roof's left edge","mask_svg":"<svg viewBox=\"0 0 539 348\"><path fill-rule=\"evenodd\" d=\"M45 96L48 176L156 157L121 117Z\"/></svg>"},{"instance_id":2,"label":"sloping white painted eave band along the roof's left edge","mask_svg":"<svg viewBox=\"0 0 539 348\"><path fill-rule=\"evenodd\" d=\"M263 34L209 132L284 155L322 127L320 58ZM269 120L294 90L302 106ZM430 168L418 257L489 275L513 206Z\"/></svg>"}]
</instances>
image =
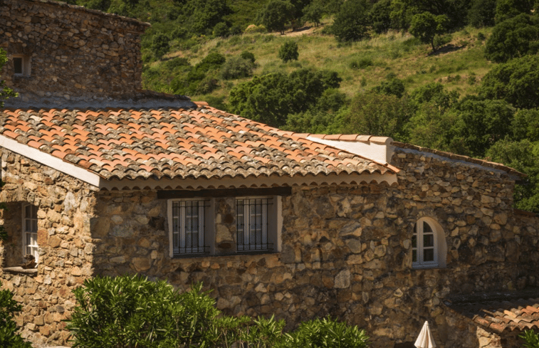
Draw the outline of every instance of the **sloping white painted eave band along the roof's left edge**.
<instances>
[{"instance_id":1,"label":"sloping white painted eave band along the roof's left edge","mask_svg":"<svg viewBox=\"0 0 539 348\"><path fill-rule=\"evenodd\" d=\"M73 176L76 179L99 188L103 186L103 181L105 181L105 179L98 174L75 166L75 164L63 161L63 159L54 157L52 154L47 154L46 152L42 152L26 144L21 144L14 139L6 137L5 135L0 135L0 147L9 149L10 151L21 154L28 159L32 159L33 161L41 163L47 167L51 167L52 169L56 169L59 172L68 174L69 176Z\"/></svg>"}]
</instances>

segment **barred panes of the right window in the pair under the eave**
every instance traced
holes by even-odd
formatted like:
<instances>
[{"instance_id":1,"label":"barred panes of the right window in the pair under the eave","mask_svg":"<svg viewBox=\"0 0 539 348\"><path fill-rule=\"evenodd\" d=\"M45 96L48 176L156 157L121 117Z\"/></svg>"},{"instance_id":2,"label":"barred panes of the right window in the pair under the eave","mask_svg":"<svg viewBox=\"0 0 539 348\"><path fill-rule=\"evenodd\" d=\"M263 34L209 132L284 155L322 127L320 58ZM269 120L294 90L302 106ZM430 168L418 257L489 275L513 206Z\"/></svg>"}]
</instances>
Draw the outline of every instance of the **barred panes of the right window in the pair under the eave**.
<instances>
[{"instance_id":1,"label":"barred panes of the right window in the pair under the eave","mask_svg":"<svg viewBox=\"0 0 539 348\"><path fill-rule=\"evenodd\" d=\"M268 251L273 243L268 239L269 206L271 198L236 199L236 250Z\"/></svg>"}]
</instances>

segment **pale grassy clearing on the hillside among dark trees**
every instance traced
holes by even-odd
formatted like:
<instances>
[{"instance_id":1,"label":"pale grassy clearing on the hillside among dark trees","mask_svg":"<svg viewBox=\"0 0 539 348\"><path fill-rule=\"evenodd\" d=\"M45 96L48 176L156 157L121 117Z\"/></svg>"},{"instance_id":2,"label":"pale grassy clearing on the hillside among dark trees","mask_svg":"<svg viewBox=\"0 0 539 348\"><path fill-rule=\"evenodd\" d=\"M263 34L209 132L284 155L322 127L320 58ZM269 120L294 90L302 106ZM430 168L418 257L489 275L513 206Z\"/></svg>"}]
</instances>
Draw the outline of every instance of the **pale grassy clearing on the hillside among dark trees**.
<instances>
[{"instance_id":1,"label":"pale grassy clearing on the hillside among dark trees","mask_svg":"<svg viewBox=\"0 0 539 348\"><path fill-rule=\"evenodd\" d=\"M284 36L253 33L214 38L197 43L190 49L178 49L179 46L174 46L173 41L172 52L147 67L151 73L145 74L145 88L174 93L169 86L174 75L167 73L167 61L182 57L194 65L211 51L219 52L226 58L250 51L257 63L254 75L277 71L290 73L298 68L333 70L342 78L340 90L350 97L379 85L390 73L402 79L407 90L436 81L446 85L448 90L466 95L474 92L478 81L492 66L483 57L484 38L478 39L480 33L488 36L490 28L465 28L453 33L451 42L434 55L430 54L429 45L419 43L408 33L390 32L369 40L339 45L333 36L323 34L324 26L305 28L304 31L288 31ZM278 58L278 50L287 40L298 43L299 59L283 63ZM249 79L221 81L219 88L211 93L211 99L222 97L226 102L229 90ZM191 97L201 100L208 95Z\"/></svg>"}]
</instances>

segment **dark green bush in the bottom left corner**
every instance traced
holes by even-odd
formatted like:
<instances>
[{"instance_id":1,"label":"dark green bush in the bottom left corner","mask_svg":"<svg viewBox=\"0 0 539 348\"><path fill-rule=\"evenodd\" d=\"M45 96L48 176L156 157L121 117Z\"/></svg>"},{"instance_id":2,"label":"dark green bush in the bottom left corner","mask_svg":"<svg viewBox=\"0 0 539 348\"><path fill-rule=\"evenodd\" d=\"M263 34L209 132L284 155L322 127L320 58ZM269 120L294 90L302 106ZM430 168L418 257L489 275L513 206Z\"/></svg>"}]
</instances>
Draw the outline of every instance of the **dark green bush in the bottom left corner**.
<instances>
[{"instance_id":1,"label":"dark green bush in the bottom left corner","mask_svg":"<svg viewBox=\"0 0 539 348\"><path fill-rule=\"evenodd\" d=\"M13 320L14 314L21 310L22 306L13 300L11 291L0 290L0 348L32 347L30 342L24 342L21 335L17 333L17 324Z\"/></svg>"}]
</instances>

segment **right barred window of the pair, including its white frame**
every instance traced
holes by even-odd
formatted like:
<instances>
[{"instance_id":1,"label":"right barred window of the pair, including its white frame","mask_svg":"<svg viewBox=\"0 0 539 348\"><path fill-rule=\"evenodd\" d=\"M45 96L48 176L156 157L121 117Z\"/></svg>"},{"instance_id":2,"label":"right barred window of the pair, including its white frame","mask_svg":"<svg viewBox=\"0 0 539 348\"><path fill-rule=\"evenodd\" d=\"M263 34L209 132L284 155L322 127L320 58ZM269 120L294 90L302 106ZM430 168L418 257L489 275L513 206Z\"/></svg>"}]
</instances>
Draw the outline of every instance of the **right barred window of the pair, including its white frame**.
<instances>
[{"instance_id":1,"label":"right barred window of the pair, including its white frame","mask_svg":"<svg viewBox=\"0 0 539 348\"><path fill-rule=\"evenodd\" d=\"M248 201L248 204L239 205L240 201ZM256 209L258 204L261 211L253 211L252 209ZM243 211L239 211L240 209ZM279 196L236 197L236 251L238 253L280 251L281 238L279 237L282 226L280 212ZM240 226L247 229L239 231ZM258 230L259 233L253 229ZM260 243L257 243L258 241Z\"/></svg>"}]
</instances>

